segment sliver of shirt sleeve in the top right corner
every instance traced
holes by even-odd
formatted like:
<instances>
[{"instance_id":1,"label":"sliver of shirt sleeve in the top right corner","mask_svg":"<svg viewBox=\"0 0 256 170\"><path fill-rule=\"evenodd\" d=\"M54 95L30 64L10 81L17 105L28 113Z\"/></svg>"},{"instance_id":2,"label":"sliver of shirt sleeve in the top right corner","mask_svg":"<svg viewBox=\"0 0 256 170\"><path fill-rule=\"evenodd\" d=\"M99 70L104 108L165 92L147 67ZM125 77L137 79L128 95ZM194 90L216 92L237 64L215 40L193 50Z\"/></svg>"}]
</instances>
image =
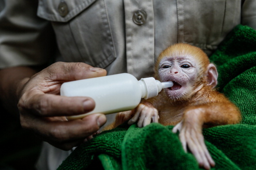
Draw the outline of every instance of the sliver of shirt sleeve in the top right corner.
<instances>
[{"instance_id":1,"label":"sliver of shirt sleeve in the top right corner","mask_svg":"<svg viewBox=\"0 0 256 170\"><path fill-rule=\"evenodd\" d=\"M241 23L256 30L256 0L244 0Z\"/></svg>"}]
</instances>

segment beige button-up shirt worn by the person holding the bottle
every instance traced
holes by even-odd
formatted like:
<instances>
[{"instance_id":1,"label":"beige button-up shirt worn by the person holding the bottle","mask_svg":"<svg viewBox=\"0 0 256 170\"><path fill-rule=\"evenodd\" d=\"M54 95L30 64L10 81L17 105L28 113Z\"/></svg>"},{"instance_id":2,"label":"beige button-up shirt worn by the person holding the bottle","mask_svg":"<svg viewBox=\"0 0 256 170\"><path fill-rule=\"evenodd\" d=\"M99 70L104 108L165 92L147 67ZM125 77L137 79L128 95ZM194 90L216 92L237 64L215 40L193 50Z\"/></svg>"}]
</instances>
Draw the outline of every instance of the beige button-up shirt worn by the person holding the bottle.
<instances>
[{"instance_id":1,"label":"beige button-up shirt worn by the person holding the bottle","mask_svg":"<svg viewBox=\"0 0 256 170\"><path fill-rule=\"evenodd\" d=\"M152 76L166 47L210 55L237 24L256 29L256 0L0 0L0 68L47 63L57 43L56 60Z\"/></svg>"}]
</instances>

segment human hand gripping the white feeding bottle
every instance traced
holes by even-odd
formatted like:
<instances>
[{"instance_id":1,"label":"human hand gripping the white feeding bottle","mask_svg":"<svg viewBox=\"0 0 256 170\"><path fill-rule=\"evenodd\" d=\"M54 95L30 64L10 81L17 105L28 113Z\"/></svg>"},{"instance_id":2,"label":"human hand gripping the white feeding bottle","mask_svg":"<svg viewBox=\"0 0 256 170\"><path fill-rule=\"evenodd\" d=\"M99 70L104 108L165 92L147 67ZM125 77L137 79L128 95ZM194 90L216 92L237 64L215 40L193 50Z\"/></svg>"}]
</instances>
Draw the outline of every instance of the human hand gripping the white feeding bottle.
<instances>
[{"instance_id":1,"label":"human hand gripping the white feeding bottle","mask_svg":"<svg viewBox=\"0 0 256 170\"><path fill-rule=\"evenodd\" d=\"M17 93L22 127L34 131L43 140L63 150L72 149L105 124L106 116L92 114L66 121L65 116L91 111L94 100L89 97L60 96L63 82L106 76L106 70L84 63L57 62L23 79Z\"/></svg>"}]
</instances>

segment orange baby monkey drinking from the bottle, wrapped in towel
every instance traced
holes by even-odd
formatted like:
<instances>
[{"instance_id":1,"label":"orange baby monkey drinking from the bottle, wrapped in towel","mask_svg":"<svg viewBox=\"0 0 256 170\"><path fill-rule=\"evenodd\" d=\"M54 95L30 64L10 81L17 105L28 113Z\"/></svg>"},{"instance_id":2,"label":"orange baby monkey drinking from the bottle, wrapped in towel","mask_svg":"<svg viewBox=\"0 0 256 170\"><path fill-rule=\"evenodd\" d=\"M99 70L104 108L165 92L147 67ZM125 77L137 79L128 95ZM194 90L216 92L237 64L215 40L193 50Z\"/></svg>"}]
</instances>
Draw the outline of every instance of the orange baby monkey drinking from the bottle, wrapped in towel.
<instances>
[{"instance_id":1,"label":"orange baby monkey drinking from the bottle, wrapped in towel","mask_svg":"<svg viewBox=\"0 0 256 170\"><path fill-rule=\"evenodd\" d=\"M120 112L112 128L128 121L144 127L151 122L175 125L185 152L193 153L200 167L215 166L202 134L203 127L236 124L241 120L239 109L223 94L216 91L217 69L199 48L175 44L165 49L155 65L155 78L172 81L171 88L162 90L157 97L142 100L131 111Z\"/></svg>"}]
</instances>

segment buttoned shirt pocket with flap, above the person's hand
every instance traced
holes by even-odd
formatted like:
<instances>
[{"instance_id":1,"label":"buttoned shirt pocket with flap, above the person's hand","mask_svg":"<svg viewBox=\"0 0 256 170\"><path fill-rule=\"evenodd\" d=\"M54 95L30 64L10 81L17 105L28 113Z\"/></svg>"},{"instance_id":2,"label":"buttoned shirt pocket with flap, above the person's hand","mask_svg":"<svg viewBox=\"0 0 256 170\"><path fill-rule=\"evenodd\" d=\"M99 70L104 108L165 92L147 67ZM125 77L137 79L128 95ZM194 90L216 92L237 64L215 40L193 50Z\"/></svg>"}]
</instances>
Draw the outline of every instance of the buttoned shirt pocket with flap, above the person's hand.
<instances>
[{"instance_id":1,"label":"buttoned shirt pocket with flap, above the person's hand","mask_svg":"<svg viewBox=\"0 0 256 170\"><path fill-rule=\"evenodd\" d=\"M116 59L104 0L39 0L37 15L51 21L64 61L105 68Z\"/></svg>"}]
</instances>

